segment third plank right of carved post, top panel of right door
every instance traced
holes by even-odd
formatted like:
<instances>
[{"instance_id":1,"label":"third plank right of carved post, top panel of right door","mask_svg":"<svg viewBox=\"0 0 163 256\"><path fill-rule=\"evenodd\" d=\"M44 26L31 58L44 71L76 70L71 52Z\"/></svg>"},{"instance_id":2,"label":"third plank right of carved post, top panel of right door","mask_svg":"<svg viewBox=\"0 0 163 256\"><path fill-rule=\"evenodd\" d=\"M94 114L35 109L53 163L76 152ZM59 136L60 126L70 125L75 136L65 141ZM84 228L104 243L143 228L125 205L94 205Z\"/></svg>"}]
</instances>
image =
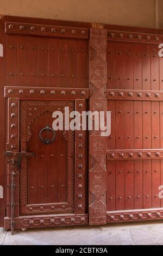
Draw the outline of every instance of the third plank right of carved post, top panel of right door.
<instances>
[{"instance_id":1,"label":"third plank right of carved post, top panel of right door","mask_svg":"<svg viewBox=\"0 0 163 256\"><path fill-rule=\"evenodd\" d=\"M125 44L124 55L124 89L133 89L134 87L134 62L133 62L133 44Z\"/></svg>"}]
</instances>

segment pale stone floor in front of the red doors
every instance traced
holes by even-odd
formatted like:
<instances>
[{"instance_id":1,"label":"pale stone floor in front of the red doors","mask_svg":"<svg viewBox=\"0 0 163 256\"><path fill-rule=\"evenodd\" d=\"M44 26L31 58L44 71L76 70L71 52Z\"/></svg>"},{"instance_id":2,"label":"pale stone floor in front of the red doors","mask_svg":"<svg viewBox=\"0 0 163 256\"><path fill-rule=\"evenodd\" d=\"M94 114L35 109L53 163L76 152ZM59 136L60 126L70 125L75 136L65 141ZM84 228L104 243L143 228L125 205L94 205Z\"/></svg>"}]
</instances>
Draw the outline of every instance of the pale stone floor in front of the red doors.
<instances>
[{"instance_id":1,"label":"pale stone floor in front of the red doors","mask_svg":"<svg viewBox=\"0 0 163 256\"><path fill-rule=\"evenodd\" d=\"M163 222L16 230L0 228L0 245L163 245Z\"/></svg>"}]
</instances>

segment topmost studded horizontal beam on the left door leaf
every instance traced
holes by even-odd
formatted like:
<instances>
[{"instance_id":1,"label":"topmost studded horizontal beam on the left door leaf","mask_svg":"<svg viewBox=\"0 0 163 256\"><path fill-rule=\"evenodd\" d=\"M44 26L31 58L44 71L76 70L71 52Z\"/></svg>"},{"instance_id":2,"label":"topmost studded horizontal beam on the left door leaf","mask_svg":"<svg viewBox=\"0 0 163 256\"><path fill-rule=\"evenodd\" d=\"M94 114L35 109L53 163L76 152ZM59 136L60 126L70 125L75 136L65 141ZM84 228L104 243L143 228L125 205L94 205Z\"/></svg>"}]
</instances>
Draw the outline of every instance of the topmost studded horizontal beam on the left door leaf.
<instances>
[{"instance_id":1,"label":"topmost studded horizontal beam on the left door leaf","mask_svg":"<svg viewBox=\"0 0 163 256\"><path fill-rule=\"evenodd\" d=\"M19 35L39 35L39 36L57 36L61 38L79 38L89 39L89 29L66 27L66 26L52 26L40 25L32 23L20 22L5 22L6 34L19 34Z\"/></svg>"}]
</instances>

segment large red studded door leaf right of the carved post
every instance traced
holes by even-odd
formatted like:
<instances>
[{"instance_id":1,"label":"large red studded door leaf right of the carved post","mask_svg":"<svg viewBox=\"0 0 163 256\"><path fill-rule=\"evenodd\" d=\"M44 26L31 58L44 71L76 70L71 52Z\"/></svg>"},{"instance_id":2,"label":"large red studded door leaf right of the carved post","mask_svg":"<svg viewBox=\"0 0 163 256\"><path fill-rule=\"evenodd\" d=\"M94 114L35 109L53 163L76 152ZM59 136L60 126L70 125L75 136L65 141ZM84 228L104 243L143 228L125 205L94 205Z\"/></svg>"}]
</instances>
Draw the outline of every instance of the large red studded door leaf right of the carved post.
<instances>
[{"instance_id":1,"label":"large red studded door leaf right of the carved post","mask_svg":"<svg viewBox=\"0 0 163 256\"><path fill-rule=\"evenodd\" d=\"M159 40L152 34L108 32L108 222L161 217Z\"/></svg>"}]
</instances>

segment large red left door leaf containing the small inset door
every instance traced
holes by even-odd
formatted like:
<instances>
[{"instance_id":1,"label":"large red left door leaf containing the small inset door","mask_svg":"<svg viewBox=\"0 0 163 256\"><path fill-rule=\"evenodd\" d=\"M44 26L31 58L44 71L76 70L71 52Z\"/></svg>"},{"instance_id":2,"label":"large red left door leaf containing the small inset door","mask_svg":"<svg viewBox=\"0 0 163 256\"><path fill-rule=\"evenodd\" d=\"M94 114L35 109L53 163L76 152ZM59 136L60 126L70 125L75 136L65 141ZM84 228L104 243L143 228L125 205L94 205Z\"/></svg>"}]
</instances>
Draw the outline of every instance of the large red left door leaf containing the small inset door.
<instances>
[{"instance_id":1,"label":"large red left door leaf containing the small inset door","mask_svg":"<svg viewBox=\"0 0 163 256\"><path fill-rule=\"evenodd\" d=\"M80 127L78 131L54 132L52 114L65 114L65 107L69 113L86 110L89 30L55 26L55 22L49 25L49 21L42 25L43 21L37 20L24 23L27 20L23 18L4 20L5 228L85 224L86 131ZM44 143L53 135L52 143Z\"/></svg>"}]
</instances>

